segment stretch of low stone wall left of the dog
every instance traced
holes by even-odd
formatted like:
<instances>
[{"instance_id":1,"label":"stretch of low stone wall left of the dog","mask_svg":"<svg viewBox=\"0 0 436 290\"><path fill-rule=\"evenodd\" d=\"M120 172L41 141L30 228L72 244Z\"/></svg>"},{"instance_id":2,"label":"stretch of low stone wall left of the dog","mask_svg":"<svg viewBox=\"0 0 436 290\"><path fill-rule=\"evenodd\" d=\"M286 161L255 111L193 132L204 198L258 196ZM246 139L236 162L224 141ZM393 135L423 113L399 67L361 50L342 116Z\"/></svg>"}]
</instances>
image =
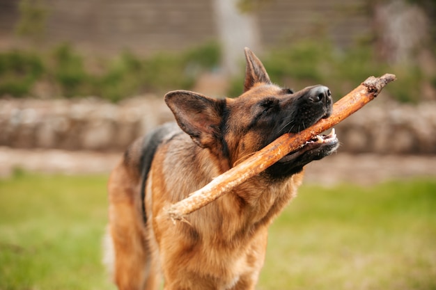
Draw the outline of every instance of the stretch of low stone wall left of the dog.
<instances>
[{"instance_id":1,"label":"stretch of low stone wall left of the dog","mask_svg":"<svg viewBox=\"0 0 436 290\"><path fill-rule=\"evenodd\" d=\"M97 99L0 100L0 145L66 150L123 150L157 124L173 120L157 99L116 105Z\"/></svg>"}]
</instances>

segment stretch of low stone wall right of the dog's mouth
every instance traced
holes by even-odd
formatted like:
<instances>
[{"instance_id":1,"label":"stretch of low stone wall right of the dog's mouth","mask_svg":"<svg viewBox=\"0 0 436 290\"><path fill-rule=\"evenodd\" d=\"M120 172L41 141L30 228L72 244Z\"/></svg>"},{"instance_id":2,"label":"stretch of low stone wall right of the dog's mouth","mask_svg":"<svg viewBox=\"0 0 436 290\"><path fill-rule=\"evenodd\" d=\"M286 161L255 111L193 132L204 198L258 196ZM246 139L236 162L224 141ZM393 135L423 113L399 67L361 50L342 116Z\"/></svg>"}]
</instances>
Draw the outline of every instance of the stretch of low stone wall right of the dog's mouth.
<instances>
[{"instance_id":1,"label":"stretch of low stone wall right of the dog's mouth","mask_svg":"<svg viewBox=\"0 0 436 290\"><path fill-rule=\"evenodd\" d=\"M436 102L368 104L336 126L342 151L435 154Z\"/></svg>"}]
</instances>

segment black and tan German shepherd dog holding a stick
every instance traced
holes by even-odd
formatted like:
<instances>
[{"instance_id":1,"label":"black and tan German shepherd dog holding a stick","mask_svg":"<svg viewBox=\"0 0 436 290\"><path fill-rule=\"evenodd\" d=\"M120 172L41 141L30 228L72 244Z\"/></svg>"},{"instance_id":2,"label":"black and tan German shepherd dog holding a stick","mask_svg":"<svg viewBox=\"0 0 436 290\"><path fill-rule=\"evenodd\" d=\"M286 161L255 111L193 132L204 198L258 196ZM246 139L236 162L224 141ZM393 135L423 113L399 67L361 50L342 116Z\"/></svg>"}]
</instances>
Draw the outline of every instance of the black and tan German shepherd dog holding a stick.
<instances>
[{"instance_id":1,"label":"black and tan German shepherd dog holding a stick","mask_svg":"<svg viewBox=\"0 0 436 290\"><path fill-rule=\"evenodd\" d=\"M332 154L335 134L318 136L226 195L189 214L157 219L282 134L298 133L332 111L325 86L293 92L270 81L245 49L244 92L212 99L176 90L165 95L177 124L136 140L109 179L107 245L121 290L254 289L267 229L296 195L303 167Z\"/></svg>"}]
</instances>

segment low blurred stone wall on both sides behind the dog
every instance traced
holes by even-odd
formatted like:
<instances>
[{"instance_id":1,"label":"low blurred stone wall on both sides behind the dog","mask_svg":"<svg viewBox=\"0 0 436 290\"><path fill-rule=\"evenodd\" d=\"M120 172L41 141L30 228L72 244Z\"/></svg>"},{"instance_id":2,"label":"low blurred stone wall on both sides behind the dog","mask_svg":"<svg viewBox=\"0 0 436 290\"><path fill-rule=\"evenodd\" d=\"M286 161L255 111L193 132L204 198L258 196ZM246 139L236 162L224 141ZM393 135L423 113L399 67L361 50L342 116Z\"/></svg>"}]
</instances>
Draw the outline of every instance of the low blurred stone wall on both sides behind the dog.
<instances>
[{"instance_id":1,"label":"low blurred stone wall on both sides behind the dog","mask_svg":"<svg viewBox=\"0 0 436 290\"><path fill-rule=\"evenodd\" d=\"M436 102L372 102L341 124L341 152L436 154ZM0 145L66 150L124 150L157 124L173 120L162 99L118 105L98 99L0 99Z\"/></svg>"}]
</instances>

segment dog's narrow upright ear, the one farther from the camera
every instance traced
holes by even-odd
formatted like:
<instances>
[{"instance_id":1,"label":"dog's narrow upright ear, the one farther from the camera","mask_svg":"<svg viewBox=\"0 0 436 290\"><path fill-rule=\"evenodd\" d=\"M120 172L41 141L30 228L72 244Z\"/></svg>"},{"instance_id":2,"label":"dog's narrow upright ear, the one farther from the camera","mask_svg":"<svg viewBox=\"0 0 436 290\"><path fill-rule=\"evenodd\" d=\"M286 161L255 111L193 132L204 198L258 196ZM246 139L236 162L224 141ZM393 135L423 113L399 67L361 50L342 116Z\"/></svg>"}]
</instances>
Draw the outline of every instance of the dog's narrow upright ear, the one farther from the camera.
<instances>
[{"instance_id":1,"label":"dog's narrow upright ear, the one farther from the camera","mask_svg":"<svg viewBox=\"0 0 436 290\"><path fill-rule=\"evenodd\" d=\"M247 92L256 83L271 83L265 67L248 47L245 47L247 68L245 70L244 92Z\"/></svg>"}]
</instances>

